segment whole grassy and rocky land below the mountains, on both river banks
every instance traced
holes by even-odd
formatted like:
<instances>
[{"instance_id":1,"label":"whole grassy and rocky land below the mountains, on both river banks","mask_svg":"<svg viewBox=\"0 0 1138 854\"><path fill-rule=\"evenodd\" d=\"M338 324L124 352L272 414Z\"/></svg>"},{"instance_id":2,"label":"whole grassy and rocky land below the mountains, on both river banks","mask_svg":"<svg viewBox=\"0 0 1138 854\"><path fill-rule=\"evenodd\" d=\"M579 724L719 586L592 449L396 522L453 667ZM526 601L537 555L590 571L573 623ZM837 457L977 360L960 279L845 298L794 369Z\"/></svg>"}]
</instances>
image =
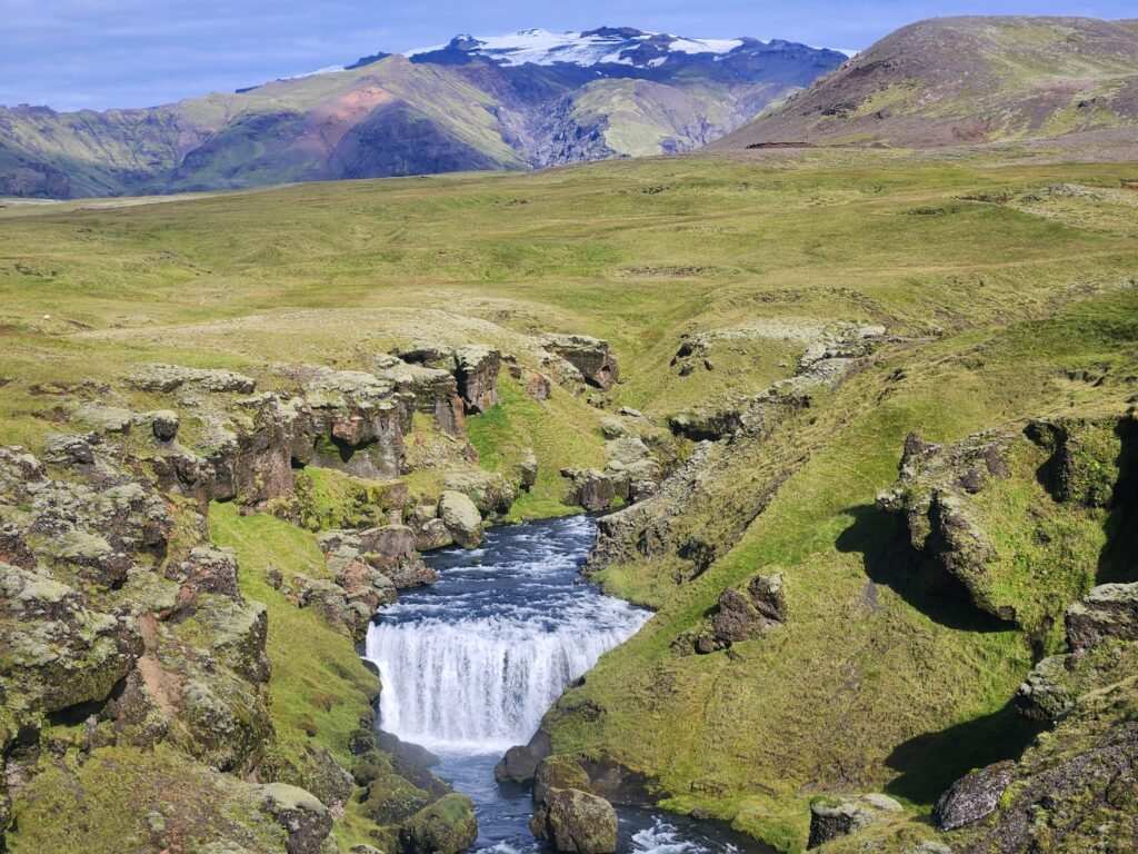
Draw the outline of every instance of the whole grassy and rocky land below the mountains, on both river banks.
<instances>
[{"instance_id":1,"label":"whole grassy and rocky land below the mountains, on both river banks","mask_svg":"<svg viewBox=\"0 0 1138 854\"><path fill-rule=\"evenodd\" d=\"M464 491L617 510L589 570L657 610L546 717L574 787L783 851L811 808L865 813L827 852L1125 851L1135 633L1064 611L1138 581L1130 178L776 151L0 210L8 848L463 847L358 734L353 630L421 569L351 536L429 548Z\"/></svg>"}]
</instances>

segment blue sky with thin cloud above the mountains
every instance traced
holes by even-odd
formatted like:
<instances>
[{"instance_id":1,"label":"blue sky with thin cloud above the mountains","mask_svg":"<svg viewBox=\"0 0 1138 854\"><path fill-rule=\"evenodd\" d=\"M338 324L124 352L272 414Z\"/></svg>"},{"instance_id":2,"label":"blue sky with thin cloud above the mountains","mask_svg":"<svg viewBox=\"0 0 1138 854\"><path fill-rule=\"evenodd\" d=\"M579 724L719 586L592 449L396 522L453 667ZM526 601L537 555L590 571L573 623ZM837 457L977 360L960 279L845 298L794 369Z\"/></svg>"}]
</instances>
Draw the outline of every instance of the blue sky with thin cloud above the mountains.
<instances>
[{"instance_id":1,"label":"blue sky with thin cloud above the mountains","mask_svg":"<svg viewBox=\"0 0 1138 854\"><path fill-rule=\"evenodd\" d=\"M544 8L543 8L544 7ZM0 104L146 107L457 33L635 26L863 49L943 15L1138 15L1135 0L0 0Z\"/></svg>"}]
</instances>

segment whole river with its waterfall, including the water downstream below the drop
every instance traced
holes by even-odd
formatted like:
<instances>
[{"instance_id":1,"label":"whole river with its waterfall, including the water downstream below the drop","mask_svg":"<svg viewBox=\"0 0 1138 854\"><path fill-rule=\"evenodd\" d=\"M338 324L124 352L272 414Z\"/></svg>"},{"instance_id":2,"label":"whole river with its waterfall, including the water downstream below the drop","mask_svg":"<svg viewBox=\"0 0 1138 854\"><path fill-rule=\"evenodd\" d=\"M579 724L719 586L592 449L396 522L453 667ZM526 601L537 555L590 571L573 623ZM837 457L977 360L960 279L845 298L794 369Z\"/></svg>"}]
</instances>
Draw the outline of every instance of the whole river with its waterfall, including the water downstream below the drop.
<instances>
[{"instance_id":1,"label":"whole river with its waterfall, including the water downstream below the drop","mask_svg":"<svg viewBox=\"0 0 1138 854\"><path fill-rule=\"evenodd\" d=\"M475 851L543 851L528 828L529 791L496 783L494 764L650 617L582 577L595 536L594 520L578 516L493 528L479 549L428 555L439 581L404 592L368 632L365 656L384 683L380 725L434 750L435 773L475 802ZM682 816L618 814L621 854L761 851Z\"/></svg>"}]
</instances>

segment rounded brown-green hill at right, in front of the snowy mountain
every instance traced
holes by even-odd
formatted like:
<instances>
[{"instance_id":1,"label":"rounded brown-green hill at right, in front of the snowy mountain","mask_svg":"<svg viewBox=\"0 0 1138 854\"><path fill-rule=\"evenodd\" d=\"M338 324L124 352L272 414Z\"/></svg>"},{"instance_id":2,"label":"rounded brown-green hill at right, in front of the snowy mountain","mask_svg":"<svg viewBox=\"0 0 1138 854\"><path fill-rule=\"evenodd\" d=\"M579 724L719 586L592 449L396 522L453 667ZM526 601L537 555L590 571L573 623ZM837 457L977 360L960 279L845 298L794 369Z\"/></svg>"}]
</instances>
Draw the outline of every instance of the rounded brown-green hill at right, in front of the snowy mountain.
<instances>
[{"instance_id":1,"label":"rounded brown-green hill at right, in front of the snowy mountain","mask_svg":"<svg viewBox=\"0 0 1138 854\"><path fill-rule=\"evenodd\" d=\"M898 30L716 147L1094 141L1136 128L1138 22L956 17Z\"/></svg>"}]
</instances>

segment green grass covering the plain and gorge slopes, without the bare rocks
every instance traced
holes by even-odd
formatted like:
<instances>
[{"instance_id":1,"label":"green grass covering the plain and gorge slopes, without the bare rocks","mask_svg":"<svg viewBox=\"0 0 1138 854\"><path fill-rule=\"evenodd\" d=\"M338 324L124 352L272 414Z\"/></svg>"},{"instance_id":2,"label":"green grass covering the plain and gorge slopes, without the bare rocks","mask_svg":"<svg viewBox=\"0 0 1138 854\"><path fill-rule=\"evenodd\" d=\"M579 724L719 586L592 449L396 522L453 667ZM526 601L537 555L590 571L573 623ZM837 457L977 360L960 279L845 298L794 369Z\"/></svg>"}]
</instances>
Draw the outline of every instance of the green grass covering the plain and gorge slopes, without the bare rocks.
<instances>
[{"instance_id":1,"label":"green grass covering the plain and gorge slopes, without the bare rocks","mask_svg":"<svg viewBox=\"0 0 1138 854\"><path fill-rule=\"evenodd\" d=\"M955 774L1021 746L1007 704L1032 639L931 592L874 498L894 482L910 430L953 442L1030 418L1125 411L1138 383L1138 230L1118 194L1133 174L1128 164L816 151L6 210L0 441L38 447L85 396L152 408L119 383L149 361L239 369L272 388L281 380L269 362L363 368L424 338L493 344L538 367L533 335L579 331L612 343L615 389L554 386L537 402L503 372L502 403L467 425L490 470L537 454L538 483L512 518L556 515L567 511L559 469L604 462L602 417L632 405L662 426L752 396L792 372L805 347L718 335L714 370L696 360L681 377L671 360L690 336L887 326L897 339L860 372L765 441L719 452L711 481L669 520L673 547L719 548L710 569L677 583L687 564L673 548L602 573L607 589L659 614L551 718L559 749L610 753L658 774L670 806L702 806L793 849L813 794L884 789L921 813ZM1094 194L1037 192L1071 183ZM1111 532L1127 517L1048 516L1053 542L1071 547L1056 567L1032 552L1023 519L1050 514L1030 469L1024 461L984 496L984 524L1005 545L1006 592L1054 609L1094 575L1098 543L1124 553L1127 535ZM427 495L440 477L406 479ZM344 507L335 476L313 484L327 512ZM289 662L271 685L278 732L290 749L314 739L343 755L370 678L346 639L262 577L270 563L319 573L311 534L225 506L211 525L238 548L247 594L270 607L274 663ZM1048 582L1052 600L1024 581L1039 560L1062 581ZM786 576L784 626L732 656L671 651L725 588L773 572ZM296 637L312 638L303 655L288 643ZM604 713L574 714L584 700Z\"/></svg>"}]
</instances>

